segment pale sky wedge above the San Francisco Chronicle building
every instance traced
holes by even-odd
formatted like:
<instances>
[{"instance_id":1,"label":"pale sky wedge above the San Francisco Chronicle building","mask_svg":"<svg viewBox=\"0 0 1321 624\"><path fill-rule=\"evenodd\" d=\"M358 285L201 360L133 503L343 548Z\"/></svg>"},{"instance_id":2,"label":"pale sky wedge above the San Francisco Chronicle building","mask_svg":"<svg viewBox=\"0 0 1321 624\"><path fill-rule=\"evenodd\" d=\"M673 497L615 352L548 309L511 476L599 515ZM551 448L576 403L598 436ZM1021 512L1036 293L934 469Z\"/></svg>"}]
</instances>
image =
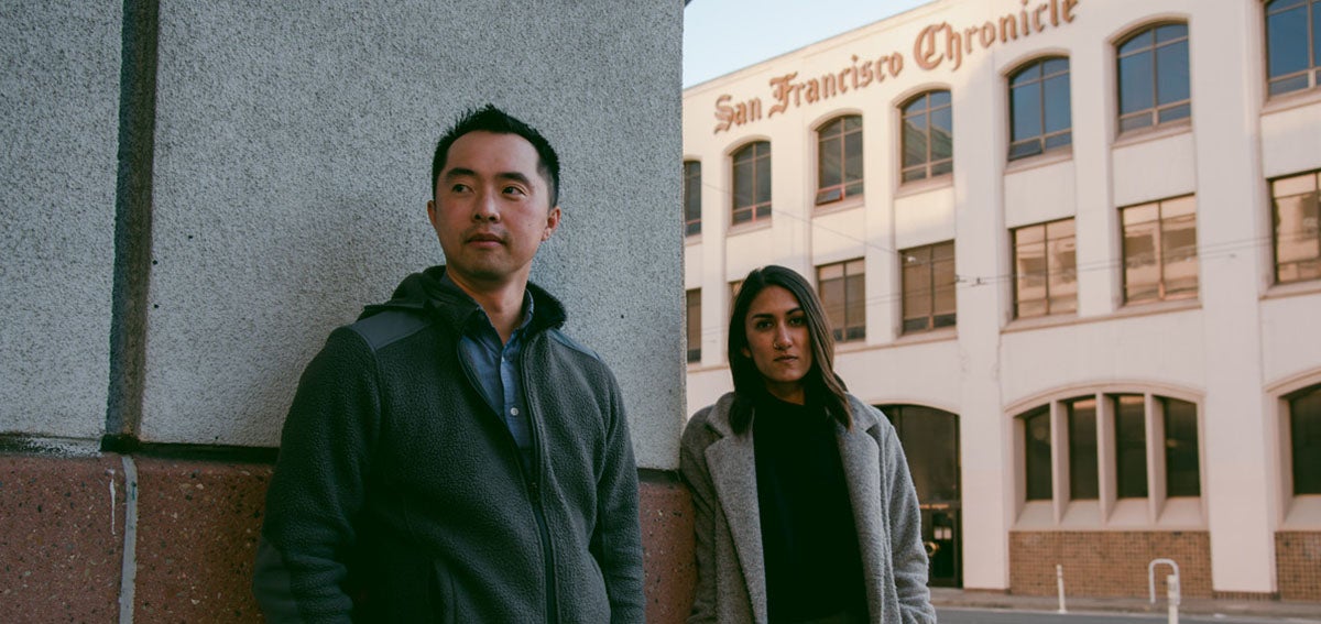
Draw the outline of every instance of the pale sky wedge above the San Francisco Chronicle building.
<instances>
[{"instance_id":1,"label":"pale sky wedge above the San Francisco Chronicle building","mask_svg":"<svg viewBox=\"0 0 1321 624\"><path fill-rule=\"evenodd\" d=\"M692 0L683 86L756 65L933 0Z\"/></svg>"}]
</instances>

